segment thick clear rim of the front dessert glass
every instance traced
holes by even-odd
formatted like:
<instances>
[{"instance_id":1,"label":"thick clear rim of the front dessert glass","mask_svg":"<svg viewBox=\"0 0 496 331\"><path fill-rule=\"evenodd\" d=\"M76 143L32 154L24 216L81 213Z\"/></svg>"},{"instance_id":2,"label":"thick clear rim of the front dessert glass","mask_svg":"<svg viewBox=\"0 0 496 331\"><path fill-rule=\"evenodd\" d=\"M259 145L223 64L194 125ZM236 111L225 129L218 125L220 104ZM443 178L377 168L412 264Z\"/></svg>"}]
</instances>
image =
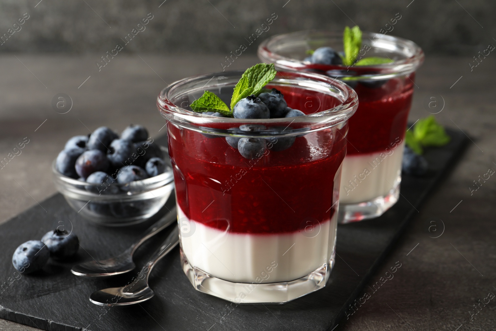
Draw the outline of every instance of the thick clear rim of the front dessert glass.
<instances>
[{"instance_id":1,"label":"thick clear rim of the front dessert glass","mask_svg":"<svg viewBox=\"0 0 496 331\"><path fill-rule=\"evenodd\" d=\"M284 82L291 84L293 82L302 82L305 81L309 87L315 87L322 89L322 93L324 93L324 87L327 87L328 94L334 96L340 102L338 105L322 110L313 114L308 114L304 116L294 117L294 118L272 118L272 119L237 119L237 118L229 118L229 117L214 117L210 115L205 115L203 113L192 112L185 108L175 105L171 99L174 99L174 93L177 93L178 89L184 87L187 84L193 84L194 82L200 82L202 80L207 81L205 85L201 88L190 89L189 91L197 91L200 89L207 89L207 87L211 86L228 86L233 85L230 83L225 84L213 84L208 85L208 83L214 77L239 77L244 73L244 70L230 70L230 71L220 71L213 72L207 74L199 74L187 78L183 78L181 80L175 81L165 87L157 97L157 107L161 112L162 116L164 116L169 123L172 121L173 123L180 124L181 126L186 127L187 129L191 129L197 132L202 133L214 133L220 136L274 136L274 135L292 135L301 132L313 132L317 130L325 129L325 127L333 127L348 120L356 111L358 107L358 96L356 92L347 84L333 79L331 77L311 73L311 72L301 72L295 70L278 70L276 78L269 82L267 85L276 85L277 82ZM288 76L297 76L294 79L289 79L285 75ZM227 77L227 78L229 78ZM298 79L297 79L298 78ZM234 86L234 85L233 85ZM343 100L340 100L338 97L333 95L332 88L343 93ZM186 91L187 92L187 91ZM183 94L186 93L183 91ZM243 125L243 124L265 124L269 126L275 125L283 125L292 123L293 126L297 126L299 129L294 131L290 128L290 130L286 131L283 134L274 134L274 130L270 130L270 128L266 131L259 130L257 132L239 132L233 131L225 128L219 129L219 127L225 127L226 125ZM313 128L314 126L318 126L318 128ZM217 127L217 128L216 128ZM304 130L309 129L309 130Z\"/></svg>"}]
</instances>

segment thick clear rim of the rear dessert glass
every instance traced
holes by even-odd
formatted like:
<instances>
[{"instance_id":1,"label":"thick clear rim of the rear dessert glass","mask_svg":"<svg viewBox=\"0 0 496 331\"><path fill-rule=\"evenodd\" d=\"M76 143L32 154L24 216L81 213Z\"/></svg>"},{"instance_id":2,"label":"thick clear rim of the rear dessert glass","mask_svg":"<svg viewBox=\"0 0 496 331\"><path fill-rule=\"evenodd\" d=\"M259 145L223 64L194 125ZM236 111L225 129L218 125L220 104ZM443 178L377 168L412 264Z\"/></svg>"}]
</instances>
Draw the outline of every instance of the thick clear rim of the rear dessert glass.
<instances>
[{"instance_id":1,"label":"thick clear rim of the rear dessert glass","mask_svg":"<svg viewBox=\"0 0 496 331\"><path fill-rule=\"evenodd\" d=\"M290 32L290 33L283 33L283 34L278 34L274 35L272 37L269 37L261 42L261 44L258 46L257 54L259 58L267 63L274 63L276 66L282 67L284 69L299 69L299 68L304 68L308 66L308 62L304 60L298 60L294 58L288 58L285 56L282 56L278 53L275 53L269 49L270 44L274 43L276 41L279 41L283 38L288 38L288 37L297 37L297 36L306 36L306 35L311 35L311 34L321 34L329 39L331 38L341 38L342 39L342 32L338 31L329 31L329 30L318 30L318 29L311 29L311 30L302 30L302 31L296 31L296 32ZM329 67L332 67L332 69L361 69L361 70L368 70L368 69L373 69L376 68L378 70L391 70L391 69L399 69L400 71L406 71L406 73L410 73L415 71L424 61L424 51L422 48L417 45L415 42L401 38L401 37L396 37L396 36L391 36L391 35L386 35L386 34L381 34L381 33L375 33L375 32L363 32L362 33L362 40L370 40L372 43L372 47L374 46L373 43L377 43L380 41L385 41L388 43L395 43L404 46L406 49L410 50L410 53L412 54L411 56L406 57L405 59L400 59L396 60L393 63L386 63L386 64L378 64L378 65L372 65L372 66L343 66L343 65L329 65ZM362 42L362 49L364 47L364 41ZM367 45L367 44L366 44ZM402 67L412 67L409 70L402 70ZM374 74L367 75L370 77L374 77ZM382 77L381 77L382 78Z\"/></svg>"}]
</instances>

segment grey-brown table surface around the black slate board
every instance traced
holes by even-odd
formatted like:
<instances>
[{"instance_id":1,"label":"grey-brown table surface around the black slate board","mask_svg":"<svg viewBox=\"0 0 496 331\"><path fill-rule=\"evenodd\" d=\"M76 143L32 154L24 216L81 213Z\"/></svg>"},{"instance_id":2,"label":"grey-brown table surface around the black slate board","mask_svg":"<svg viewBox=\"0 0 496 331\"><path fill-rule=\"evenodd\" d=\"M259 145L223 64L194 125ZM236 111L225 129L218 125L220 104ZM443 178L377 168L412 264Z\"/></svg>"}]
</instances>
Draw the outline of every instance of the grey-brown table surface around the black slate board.
<instances>
[{"instance_id":1,"label":"grey-brown table surface around the black slate board","mask_svg":"<svg viewBox=\"0 0 496 331\"><path fill-rule=\"evenodd\" d=\"M225 55L123 54L98 71L100 56L0 56L0 159L29 139L0 169L0 221L56 193L50 167L66 139L102 125L121 131L130 123L145 125L153 136L164 133L165 120L155 106L159 91L186 76L220 71ZM481 180L479 188L474 184L489 169L496 170L496 81L491 74L496 62L488 57L470 71L470 60L429 56L418 71L410 121L440 111L437 120L465 132L472 143L370 285L399 261L394 278L336 331L496 329L495 300L474 307L496 293L496 179ZM257 62L244 55L230 69ZM58 93L72 99L65 114L52 107ZM0 320L2 330L37 329Z\"/></svg>"}]
</instances>

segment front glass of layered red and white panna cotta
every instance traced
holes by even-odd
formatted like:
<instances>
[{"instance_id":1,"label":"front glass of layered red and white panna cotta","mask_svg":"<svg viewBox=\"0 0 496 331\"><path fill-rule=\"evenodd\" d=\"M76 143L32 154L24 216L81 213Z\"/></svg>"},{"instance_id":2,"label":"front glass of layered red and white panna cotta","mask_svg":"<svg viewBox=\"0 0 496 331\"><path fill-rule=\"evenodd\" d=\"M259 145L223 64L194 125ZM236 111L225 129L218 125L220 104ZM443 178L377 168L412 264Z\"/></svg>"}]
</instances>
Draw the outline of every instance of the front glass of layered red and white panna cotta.
<instances>
[{"instance_id":1,"label":"front glass of layered red and white panna cotta","mask_svg":"<svg viewBox=\"0 0 496 331\"><path fill-rule=\"evenodd\" d=\"M282 71L266 87L303 112L308 98L318 99L318 112L237 119L191 111L204 90L229 104L242 73L189 77L157 99L167 119L181 262L198 291L235 303L283 303L329 278L348 120L358 98L332 78ZM267 147L246 158L226 138L265 139Z\"/></svg>"}]
</instances>

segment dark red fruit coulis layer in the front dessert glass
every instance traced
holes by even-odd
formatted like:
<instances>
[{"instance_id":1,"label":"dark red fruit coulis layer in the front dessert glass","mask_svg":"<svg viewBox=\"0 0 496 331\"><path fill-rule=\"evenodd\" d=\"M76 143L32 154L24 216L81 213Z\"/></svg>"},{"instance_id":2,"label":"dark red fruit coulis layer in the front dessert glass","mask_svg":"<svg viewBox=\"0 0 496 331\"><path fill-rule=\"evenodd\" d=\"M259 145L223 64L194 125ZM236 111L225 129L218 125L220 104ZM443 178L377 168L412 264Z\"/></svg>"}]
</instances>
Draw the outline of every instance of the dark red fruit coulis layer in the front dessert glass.
<instances>
[{"instance_id":1,"label":"dark red fruit coulis layer in the front dessert glass","mask_svg":"<svg viewBox=\"0 0 496 331\"><path fill-rule=\"evenodd\" d=\"M306 113L307 96L318 95L322 109L340 103L318 92L282 92L289 107ZM346 154L346 130L312 132L286 150L248 160L223 137L168 124L178 204L188 219L232 233L292 233L321 224L337 205L333 192Z\"/></svg>"}]
</instances>

